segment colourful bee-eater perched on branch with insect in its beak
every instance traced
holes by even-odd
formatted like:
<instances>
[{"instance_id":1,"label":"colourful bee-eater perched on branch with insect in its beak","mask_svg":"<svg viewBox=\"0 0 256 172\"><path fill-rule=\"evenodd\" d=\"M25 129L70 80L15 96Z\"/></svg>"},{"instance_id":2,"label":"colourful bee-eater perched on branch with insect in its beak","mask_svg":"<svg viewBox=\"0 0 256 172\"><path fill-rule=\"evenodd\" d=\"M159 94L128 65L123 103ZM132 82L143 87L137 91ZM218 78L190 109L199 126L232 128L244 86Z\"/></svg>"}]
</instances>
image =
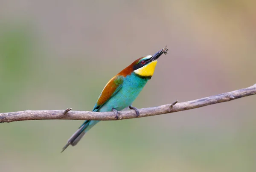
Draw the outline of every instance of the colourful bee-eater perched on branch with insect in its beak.
<instances>
[{"instance_id":1,"label":"colourful bee-eater perched on branch with insect in its beak","mask_svg":"<svg viewBox=\"0 0 256 172\"><path fill-rule=\"evenodd\" d=\"M139 95L145 84L154 74L157 59L162 54L167 54L165 48L157 51L153 56L148 55L135 60L131 65L123 69L116 76L111 78L105 85L99 98L93 107L93 112L115 113L116 119L119 118L119 111L130 108L136 112L136 117L140 115L139 110L132 106L132 103ZM68 139L67 144L62 148L63 152L69 145L75 146L81 138L99 121L86 120L79 129Z\"/></svg>"}]
</instances>

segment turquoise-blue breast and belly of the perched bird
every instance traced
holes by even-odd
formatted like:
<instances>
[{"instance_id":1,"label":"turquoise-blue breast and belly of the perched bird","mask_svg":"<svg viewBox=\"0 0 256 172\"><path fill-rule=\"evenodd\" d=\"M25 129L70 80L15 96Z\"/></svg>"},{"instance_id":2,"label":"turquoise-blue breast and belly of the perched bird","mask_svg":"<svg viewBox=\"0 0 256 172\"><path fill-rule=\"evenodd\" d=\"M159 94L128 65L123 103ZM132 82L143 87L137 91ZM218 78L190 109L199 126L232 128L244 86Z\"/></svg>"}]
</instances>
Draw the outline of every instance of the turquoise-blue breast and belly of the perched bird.
<instances>
[{"instance_id":1,"label":"turquoise-blue breast and belly of the perched bird","mask_svg":"<svg viewBox=\"0 0 256 172\"><path fill-rule=\"evenodd\" d=\"M147 82L148 79L140 78L134 73L126 76L122 88L99 109L99 112L112 111L113 108L123 110L128 107L134 102Z\"/></svg>"}]
</instances>

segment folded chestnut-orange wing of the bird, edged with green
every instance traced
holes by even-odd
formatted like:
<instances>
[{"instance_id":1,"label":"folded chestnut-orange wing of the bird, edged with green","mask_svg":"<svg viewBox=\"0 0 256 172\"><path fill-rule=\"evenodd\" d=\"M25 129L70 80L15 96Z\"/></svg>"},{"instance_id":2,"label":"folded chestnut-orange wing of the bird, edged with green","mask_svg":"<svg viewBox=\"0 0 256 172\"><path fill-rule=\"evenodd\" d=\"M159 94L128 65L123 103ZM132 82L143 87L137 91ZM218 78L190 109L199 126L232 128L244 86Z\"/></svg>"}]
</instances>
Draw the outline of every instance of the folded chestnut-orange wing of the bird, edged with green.
<instances>
[{"instance_id":1,"label":"folded chestnut-orange wing of the bird, edged with green","mask_svg":"<svg viewBox=\"0 0 256 172\"><path fill-rule=\"evenodd\" d=\"M103 104L105 104L112 96L114 96L122 87L124 77L116 75L109 80L100 93L99 98L93 107L93 111L98 111Z\"/></svg>"}]
</instances>

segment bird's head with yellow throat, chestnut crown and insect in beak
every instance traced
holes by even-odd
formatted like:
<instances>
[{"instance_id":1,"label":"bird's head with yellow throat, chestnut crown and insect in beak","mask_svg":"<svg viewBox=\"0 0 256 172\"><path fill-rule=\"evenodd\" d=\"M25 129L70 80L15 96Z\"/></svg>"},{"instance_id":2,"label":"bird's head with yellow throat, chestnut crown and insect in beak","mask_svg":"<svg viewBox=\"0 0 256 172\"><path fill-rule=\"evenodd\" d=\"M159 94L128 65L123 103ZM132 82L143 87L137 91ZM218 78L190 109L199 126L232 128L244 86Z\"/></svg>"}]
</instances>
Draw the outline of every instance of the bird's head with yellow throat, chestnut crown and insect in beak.
<instances>
[{"instance_id":1,"label":"bird's head with yellow throat, chestnut crown and insect in beak","mask_svg":"<svg viewBox=\"0 0 256 172\"><path fill-rule=\"evenodd\" d=\"M122 70L119 75L127 76L131 73L135 73L142 78L151 78L154 74L155 67L157 65L157 59L162 54L167 54L168 49L165 47L160 51L157 51L153 56L148 55L135 60L131 65Z\"/></svg>"}]
</instances>

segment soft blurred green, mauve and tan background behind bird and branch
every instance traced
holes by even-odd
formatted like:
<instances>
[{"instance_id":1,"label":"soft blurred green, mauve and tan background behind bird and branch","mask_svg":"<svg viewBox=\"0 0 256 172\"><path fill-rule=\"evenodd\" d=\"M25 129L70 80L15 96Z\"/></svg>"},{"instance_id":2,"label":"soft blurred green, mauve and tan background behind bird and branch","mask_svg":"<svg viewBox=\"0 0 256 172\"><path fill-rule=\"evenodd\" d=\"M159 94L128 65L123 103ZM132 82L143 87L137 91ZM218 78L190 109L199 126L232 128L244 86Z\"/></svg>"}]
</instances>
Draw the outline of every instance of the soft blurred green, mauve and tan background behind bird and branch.
<instances>
[{"instance_id":1,"label":"soft blurred green, mauve and tan background behind bird and branch","mask_svg":"<svg viewBox=\"0 0 256 172\"><path fill-rule=\"evenodd\" d=\"M0 112L92 110L112 76L168 45L134 106L256 83L254 0L1 0ZM0 171L255 172L256 96L178 113L0 124Z\"/></svg>"}]
</instances>

